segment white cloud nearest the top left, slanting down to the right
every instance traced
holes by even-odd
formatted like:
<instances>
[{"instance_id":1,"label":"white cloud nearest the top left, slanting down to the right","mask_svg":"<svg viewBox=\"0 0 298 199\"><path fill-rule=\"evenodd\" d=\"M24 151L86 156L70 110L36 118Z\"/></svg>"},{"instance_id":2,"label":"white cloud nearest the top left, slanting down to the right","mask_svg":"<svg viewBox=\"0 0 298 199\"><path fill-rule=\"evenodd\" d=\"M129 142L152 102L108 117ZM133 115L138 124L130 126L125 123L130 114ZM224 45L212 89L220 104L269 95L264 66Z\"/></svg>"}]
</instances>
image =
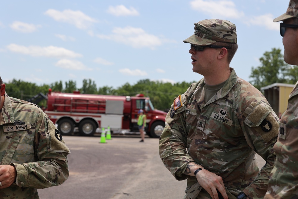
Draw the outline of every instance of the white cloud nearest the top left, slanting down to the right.
<instances>
[{"instance_id":1,"label":"white cloud nearest the top left, slanting down to the right","mask_svg":"<svg viewBox=\"0 0 298 199\"><path fill-rule=\"evenodd\" d=\"M44 14L52 17L56 21L73 24L79 29L87 29L93 23L97 22L94 18L85 15L79 10L73 11L68 9L60 12L59 10L49 9Z\"/></svg>"}]
</instances>

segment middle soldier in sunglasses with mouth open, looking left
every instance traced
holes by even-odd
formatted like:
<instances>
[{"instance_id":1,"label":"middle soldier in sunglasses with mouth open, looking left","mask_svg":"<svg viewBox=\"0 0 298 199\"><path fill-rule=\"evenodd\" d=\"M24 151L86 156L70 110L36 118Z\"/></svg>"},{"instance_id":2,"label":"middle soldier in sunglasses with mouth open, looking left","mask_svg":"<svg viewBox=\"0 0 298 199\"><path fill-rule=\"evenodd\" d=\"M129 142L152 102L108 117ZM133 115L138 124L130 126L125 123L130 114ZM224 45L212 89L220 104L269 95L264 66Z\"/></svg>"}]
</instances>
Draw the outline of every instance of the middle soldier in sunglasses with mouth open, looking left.
<instances>
[{"instance_id":1,"label":"middle soldier in sunglasses with mouth open, looking left","mask_svg":"<svg viewBox=\"0 0 298 199\"><path fill-rule=\"evenodd\" d=\"M204 76L175 98L159 139L159 154L185 199L263 198L274 166L278 117L266 98L229 64L236 26L210 19L195 23L189 53ZM258 168L256 153L267 163Z\"/></svg>"}]
</instances>

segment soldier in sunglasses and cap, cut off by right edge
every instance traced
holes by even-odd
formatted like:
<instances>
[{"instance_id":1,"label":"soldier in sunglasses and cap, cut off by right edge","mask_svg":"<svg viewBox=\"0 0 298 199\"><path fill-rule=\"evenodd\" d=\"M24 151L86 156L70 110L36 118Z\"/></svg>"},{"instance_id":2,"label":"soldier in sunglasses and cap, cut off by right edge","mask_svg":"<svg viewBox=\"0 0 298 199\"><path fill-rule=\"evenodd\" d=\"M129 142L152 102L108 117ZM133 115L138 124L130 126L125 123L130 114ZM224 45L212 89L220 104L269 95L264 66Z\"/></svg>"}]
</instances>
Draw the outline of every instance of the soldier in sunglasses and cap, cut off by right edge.
<instances>
[{"instance_id":1,"label":"soldier in sunglasses and cap, cut off by right edge","mask_svg":"<svg viewBox=\"0 0 298 199\"><path fill-rule=\"evenodd\" d=\"M287 12L273 20L280 24L285 62L298 65L298 0L291 0ZM294 86L287 110L280 118L278 140L273 149L275 166L269 177L265 198L298 198L298 82Z\"/></svg>"}]
</instances>

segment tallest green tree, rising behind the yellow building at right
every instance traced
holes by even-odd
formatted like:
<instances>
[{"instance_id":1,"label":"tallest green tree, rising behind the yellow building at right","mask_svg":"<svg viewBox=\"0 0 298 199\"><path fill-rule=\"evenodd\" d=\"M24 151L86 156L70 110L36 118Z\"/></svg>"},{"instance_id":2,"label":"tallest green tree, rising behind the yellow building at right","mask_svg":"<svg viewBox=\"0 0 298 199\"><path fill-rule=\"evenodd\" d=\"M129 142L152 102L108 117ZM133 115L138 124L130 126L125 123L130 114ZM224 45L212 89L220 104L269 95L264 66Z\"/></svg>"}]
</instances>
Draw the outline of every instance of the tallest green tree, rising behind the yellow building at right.
<instances>
[{"instance_id":1,"label":"tallest green tree, rising behind the yellow building at right","mask_svg":"<svg viewBox=\"0 0 298 199\"><path fill-rule=\"evenodd\" d=\"M252 78L252 85L260 90L261 87L273 83L288 83L286 76L289 76L288 69L290 68L283 59L280 49L272 48L271 51L266 51L260 59L261 65L254 68L249 76ZM291 73L292 74L292 73Z\"/></svg>"}]
</instances>

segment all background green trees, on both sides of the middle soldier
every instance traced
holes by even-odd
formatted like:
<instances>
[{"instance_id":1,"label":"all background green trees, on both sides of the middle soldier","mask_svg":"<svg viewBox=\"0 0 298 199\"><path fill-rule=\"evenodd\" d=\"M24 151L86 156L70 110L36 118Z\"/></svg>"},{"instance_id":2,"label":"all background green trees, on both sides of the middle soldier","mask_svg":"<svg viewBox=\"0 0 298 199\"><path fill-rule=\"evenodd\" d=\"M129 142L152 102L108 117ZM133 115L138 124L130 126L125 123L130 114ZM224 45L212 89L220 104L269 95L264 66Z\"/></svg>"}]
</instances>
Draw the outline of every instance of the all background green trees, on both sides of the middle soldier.
<instances>
[{"instance_id":1,"label":"all background green trees, on both sides of the middle soldier","mask_svg":"<svg viewBox=\"0 0 298 199\"><path fill-rule=\"evenodd\" d=\"M274 83L295 84L298 77L298 66L286 64L283 60L281 49L272 48L271 51L266 51L259 59L260 66L252 67L252 78L250 83L257 89L268 86ZM195 82L195 81L193 81ZM80 93L86 94L100 94L100 95L124 95L135 96L142 93L149 97L153 106L156 109L168 111L173 103L173 100L178 95L184 93L193 82L181 83L163 83L161 81L150 81L149 79L139 80L136 84L131 85L126 83L118 88L103 86L97 88L97 85L91 79L84 79L82 88L77 88L76 82L69 80L64 82L56 81L50 85L36 85L35 83L25 82L22 80L13 79L5 83L5 90L11 97L28 100L33 96L49 91L68 92L72 93L79 90ZM41 107L46 106L46 101L38 102Z\"/></svg>"}]
</instances>

